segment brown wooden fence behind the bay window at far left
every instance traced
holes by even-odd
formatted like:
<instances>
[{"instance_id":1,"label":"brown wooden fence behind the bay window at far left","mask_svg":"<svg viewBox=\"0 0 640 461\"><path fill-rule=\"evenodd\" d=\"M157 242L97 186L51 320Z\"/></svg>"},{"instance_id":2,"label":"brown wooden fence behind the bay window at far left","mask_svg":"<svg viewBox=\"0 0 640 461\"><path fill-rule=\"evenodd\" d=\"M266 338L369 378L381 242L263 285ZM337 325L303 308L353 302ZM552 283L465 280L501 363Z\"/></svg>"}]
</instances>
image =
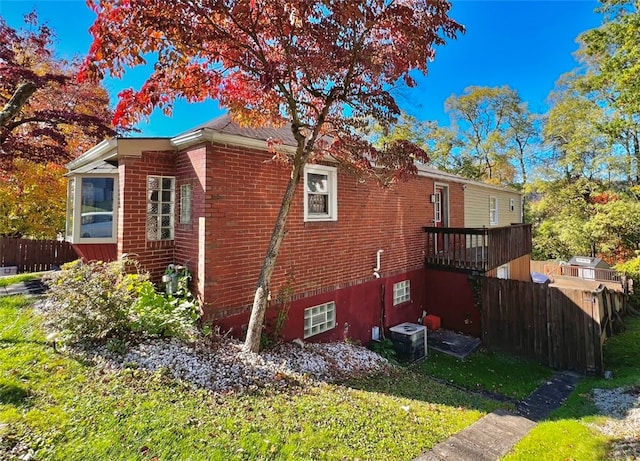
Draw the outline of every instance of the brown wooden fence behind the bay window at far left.
<instances>
[{"instance_id":1,"label":"brown wooden fence behind the bay window at far left","mask_svg":"<svg viewBox=\"0 0 640 461\"><path fill-rule=\"evenodd\" d=\"M0 267L17 266L18 272L51 270L78 259L68 242L0 238Z\"/></svg>"}]
</instances>

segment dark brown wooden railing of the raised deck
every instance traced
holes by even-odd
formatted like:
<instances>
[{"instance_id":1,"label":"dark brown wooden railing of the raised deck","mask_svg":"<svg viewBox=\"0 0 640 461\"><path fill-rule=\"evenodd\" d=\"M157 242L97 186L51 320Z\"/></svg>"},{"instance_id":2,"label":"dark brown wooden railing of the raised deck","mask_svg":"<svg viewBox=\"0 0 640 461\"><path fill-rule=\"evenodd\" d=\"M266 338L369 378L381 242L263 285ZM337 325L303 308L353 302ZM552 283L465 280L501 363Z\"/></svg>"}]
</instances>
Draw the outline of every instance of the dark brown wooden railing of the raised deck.
<instances>
[{"instance_id":1,"label":"dark brown wooden railing of the raised deck","mask_svg":"<svg viewBox=\"0 0 640 461\"><path fill-rule=\"evenodd\" d=\"M425 227L427 266L489 271L531 253L531 224L492 228Z\"/></svg>"}]
</instances>

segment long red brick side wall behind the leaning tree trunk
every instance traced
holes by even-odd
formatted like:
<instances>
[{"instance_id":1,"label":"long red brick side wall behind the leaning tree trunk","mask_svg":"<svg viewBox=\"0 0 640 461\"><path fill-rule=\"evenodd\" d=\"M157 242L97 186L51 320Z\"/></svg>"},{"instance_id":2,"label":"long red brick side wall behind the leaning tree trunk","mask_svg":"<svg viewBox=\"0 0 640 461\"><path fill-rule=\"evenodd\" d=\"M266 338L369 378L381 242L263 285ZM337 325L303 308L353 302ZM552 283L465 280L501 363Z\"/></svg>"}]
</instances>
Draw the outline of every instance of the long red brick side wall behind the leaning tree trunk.
<instances>
[{"instance_id":1,"label":"long red brick side wall behind the leaning tree trunk","mask_svg":"<svg viewBox=\"0 0 640 461\"><path fill-rule=\"evenodd\" d=\"M210 162L212 235L207 253L205 318L246 311L289 176L271 155L214 146ZM424 266L425 233L433 219L433 180L416 177L391 189L373 180L338 175L338 221L305 223L302 187L287 222L287 235L272 279L273 297L287 280L295 299L370 281L376 252L381 275ZM463 225L462 186L450 187L450 222ZM412 314L413 315L413 314Z\"/></svg>"}]
</instances>

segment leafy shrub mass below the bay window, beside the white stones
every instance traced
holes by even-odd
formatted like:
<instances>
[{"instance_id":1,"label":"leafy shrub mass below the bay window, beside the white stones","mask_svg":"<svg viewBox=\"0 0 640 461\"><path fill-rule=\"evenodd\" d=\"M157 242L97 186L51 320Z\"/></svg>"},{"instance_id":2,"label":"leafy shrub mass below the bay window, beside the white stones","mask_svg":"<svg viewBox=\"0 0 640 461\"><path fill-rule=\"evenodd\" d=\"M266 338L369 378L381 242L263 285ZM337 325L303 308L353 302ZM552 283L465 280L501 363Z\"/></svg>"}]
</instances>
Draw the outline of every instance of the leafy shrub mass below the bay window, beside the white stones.
<instances>
[{"instance_id":1,"label":"leafy shrub mass below the bay window, beside the white stones","mask_svg":"<svg viewBox=\"0 0 640 461\"><path fill-rule=\"evenodd\" d=\"M186 338L200 309L188 289L186 269L178 274L174 295L156 292L136 261L80 261L47 277L54 326L68 340L125 339L139 336Z\"/></svg>"}]
</instances>

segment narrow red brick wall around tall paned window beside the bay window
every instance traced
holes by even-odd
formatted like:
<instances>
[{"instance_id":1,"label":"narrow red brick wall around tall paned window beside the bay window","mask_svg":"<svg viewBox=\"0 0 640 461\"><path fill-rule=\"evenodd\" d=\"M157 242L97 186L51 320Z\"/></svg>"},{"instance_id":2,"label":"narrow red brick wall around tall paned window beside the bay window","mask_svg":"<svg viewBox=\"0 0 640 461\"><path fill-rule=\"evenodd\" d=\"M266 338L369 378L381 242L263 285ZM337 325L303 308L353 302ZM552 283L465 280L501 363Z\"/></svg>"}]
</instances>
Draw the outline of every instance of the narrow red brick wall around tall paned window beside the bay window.
<instances>
[{"instance_id":1,"label":"narrow red brick wall around tall paned window beside the bay window","mask_svg":"<svg viewBox=\"0 0 640 461\"><path fill-rule=\"evenodd\" d=\"M147 176L174 176L174 152L144 152L118 163L118 255L130 254L158 281L174 260L173 241L146 240Z\"/></svg>"}]
</instances>

